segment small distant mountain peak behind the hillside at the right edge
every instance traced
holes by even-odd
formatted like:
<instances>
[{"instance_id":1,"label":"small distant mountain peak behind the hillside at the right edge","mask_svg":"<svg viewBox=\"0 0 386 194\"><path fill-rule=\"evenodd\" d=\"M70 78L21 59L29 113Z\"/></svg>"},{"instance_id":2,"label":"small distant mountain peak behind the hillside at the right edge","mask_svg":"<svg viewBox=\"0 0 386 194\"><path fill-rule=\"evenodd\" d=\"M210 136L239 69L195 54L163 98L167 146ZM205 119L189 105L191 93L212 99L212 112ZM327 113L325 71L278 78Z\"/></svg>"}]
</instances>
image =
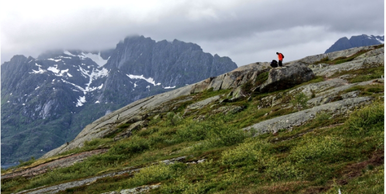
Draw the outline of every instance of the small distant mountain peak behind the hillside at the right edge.
<instances>
[{"instance_id":1,"label":"small distant mountain peak behind the hillside at the right edge","mask_svg":"<svg viewBox=\"0 0 386 194\"><path fill-rule=\"evenodd\" d=\"M360 36L352 36L350 39L347 37L340 38L331 47L329 47L324 53L345 50L360 46L371 46L384 43L384 36L367 36L362 34Z\"/></svg>"}]
</instances>

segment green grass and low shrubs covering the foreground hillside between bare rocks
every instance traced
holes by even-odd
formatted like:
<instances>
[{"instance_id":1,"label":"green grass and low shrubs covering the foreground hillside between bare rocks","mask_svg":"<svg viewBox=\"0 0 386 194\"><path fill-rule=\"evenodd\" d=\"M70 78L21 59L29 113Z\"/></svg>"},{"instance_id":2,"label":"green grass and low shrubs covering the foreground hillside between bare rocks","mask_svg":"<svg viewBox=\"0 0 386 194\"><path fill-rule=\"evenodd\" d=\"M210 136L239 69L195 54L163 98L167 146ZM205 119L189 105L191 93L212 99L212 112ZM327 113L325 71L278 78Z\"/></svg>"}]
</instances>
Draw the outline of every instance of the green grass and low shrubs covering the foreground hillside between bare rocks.
<instances>
[{"instance_id":1,"label":"green grass and low shrubs covering the foreground hillside between bare rocks","mask_svg":"<svg viewBox=\"0 0 386 194\"><path fill-rule=\"evenodd\" d=\"M356 83L380 78L383 72L384 67L378 66L340 72L333 77L355 74L348 81ZM317 77L302 85L321 81L324 79ZM211 103L203 109L185 112L189 104L212 96L226 96L230 90L192 94L191 100L176 104L176 110L148 117L148 126L133 131L129 138L114 140L115 134L129 127L121 125L115 134L86 142L82 148L61 155L109 148L107 153L31 179L2 180L1 191L18 192L138 167L142 169L136 173L101 178L59 193L103 193L154 184L161 186L149 193L338 193L338 189L342 193L383 193L383 83L355 86L341 92L359 91L359 96L375 99L348 115L320 113L306 124L274 134L255 136L255 130L241 130L309 108L302 102L302 98L308 99L306 96L288 95L293 89L253 93L250 100L244 97L236 102ZM261 108L262 98L278 94L286 95L283 99L287 99L289 106ZM231 106L244 109L226 114L215 111ZM186 156L184 162L157 163L180 156ZM203 159L204 162L197 163ZM19 167L39 163L42 161L30 161Z\"/></svg>"}]
</instances>

